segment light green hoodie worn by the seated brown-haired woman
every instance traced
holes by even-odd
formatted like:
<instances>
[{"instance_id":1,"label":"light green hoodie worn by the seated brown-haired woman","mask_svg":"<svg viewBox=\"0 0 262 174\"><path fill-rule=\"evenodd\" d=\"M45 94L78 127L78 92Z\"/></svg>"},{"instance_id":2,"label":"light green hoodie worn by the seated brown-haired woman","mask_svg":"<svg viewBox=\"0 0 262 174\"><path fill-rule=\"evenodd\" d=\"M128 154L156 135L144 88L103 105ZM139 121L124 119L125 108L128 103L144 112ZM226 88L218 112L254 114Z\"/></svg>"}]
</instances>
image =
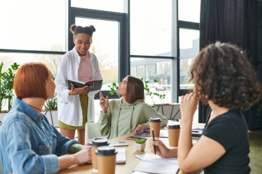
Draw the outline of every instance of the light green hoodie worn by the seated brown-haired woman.
<instances>
[{"instance_id":1,"label":"light green hoodie worn by the seated brown-haired woman","mask_svg":"<svg viewBox=\"0 0 262 174\"><path fill-rule=\"evenodd\" d=\"M125 105L122 100L112 100L109 102L108 112L100 113L98 125L101 134L112 139L133 132L139 124L149 127L150 117L159 117L162 120L161 127L168 124L168 118L154 110L142 99L128 105Z\"/></svg>"}]
</instances>

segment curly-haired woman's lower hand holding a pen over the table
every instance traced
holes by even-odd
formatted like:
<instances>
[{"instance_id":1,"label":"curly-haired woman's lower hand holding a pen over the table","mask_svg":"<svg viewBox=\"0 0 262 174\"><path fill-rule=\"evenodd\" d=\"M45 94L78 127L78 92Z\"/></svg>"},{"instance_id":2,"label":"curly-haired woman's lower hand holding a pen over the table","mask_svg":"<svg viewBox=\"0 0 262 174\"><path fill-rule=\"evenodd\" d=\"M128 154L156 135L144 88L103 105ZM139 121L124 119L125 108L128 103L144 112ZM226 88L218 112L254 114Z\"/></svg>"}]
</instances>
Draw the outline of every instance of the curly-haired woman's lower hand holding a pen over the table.
<instances>
[{"instance_id":1,"label":"curly-haired woman's lower hand holding a pen over the table","mask_svg":"<svg viewBox=\"0 0 262 174\"><path fill-rule=\"evenodd\" d=\"M177 157L177 149L168 149L161 140L154 140L151 142L151 152L154 153L154 146L157 155L161 157Z\"/></svg>"}]
</instances>

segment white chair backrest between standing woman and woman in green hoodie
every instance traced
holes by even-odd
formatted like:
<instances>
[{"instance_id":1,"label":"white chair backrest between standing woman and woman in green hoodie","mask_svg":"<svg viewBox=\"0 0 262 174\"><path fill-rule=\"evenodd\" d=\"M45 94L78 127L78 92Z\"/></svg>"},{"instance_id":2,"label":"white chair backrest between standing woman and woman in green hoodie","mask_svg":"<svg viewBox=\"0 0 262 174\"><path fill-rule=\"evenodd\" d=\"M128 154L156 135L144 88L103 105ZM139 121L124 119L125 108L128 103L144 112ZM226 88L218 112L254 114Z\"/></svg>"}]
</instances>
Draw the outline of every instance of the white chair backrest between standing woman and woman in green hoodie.
<instances>
[{"instance_id":1,"label":"white chair backrest between standing woman and woman in green hoodie","mask_svg":"<svg viewBox=\"0 0 262 174\"><path fill-rule=\"evenodd\" d=\"M92 138L102 137L97 123L87 122L85 124L85 142Z\"/></svg>"}]
</instances>

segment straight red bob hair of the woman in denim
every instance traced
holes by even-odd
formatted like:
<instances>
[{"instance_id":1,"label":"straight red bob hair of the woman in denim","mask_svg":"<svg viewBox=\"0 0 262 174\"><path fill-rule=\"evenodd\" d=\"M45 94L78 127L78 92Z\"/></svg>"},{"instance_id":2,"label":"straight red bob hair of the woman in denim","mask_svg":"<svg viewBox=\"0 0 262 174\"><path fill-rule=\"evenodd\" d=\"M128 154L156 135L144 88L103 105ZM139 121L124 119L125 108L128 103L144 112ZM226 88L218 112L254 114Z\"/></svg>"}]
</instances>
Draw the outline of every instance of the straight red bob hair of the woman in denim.
<instances>
[{"instance_id":1,"label":"straight red bob hair of the woman in denim","mask_svg":"<svg viewBox=\"0 0 262 174\"><path fill-rule=\"evenodd\" d=\"M24 63L14 76L13 89L17 98L44 98L49 69L43 63Z\"/></svg>"}]
</instances>

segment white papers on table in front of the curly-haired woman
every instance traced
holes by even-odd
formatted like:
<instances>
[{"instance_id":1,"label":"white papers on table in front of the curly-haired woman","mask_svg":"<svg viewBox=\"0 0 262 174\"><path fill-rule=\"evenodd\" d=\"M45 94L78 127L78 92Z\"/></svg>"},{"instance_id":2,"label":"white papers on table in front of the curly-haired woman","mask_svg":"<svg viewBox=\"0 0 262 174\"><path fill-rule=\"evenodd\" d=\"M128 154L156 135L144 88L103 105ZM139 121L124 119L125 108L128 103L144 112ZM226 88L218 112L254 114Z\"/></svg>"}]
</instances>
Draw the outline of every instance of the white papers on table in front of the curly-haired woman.
<instances>
[{"instance_id":1,"label":"white papers on table in front of the curly-haired woman","mask_svg":"<svg viewBox=\"0 0 262 174\"><path fill-rule=\"evenodd\" d=\"M162 158L152 153L145 154L133 171L144 173L176 174L179 170L177 157Z\"/></svg>"}]
</instances>

